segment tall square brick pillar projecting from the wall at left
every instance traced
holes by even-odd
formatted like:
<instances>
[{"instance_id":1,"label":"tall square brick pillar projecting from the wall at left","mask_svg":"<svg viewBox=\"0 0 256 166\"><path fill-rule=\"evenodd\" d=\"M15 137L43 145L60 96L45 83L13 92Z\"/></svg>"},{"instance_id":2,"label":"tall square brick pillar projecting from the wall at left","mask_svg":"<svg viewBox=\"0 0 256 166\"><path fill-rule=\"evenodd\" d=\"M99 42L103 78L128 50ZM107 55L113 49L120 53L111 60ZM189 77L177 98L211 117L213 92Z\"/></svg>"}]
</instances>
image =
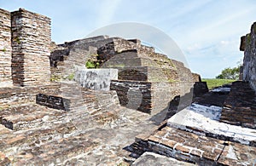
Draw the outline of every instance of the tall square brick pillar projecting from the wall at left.
<instances>
[{"instance_id":1,"label":"tall square brick pillar projecting from the wall at left","mask_svg":"<svg viewBox=\"0 0 256 166\"><path fill-rule=\"evenodd\" d=\"M12 75L15 85L49 81L50 19L19 9L11 13Z\"/></svg>"}]
</instances>

